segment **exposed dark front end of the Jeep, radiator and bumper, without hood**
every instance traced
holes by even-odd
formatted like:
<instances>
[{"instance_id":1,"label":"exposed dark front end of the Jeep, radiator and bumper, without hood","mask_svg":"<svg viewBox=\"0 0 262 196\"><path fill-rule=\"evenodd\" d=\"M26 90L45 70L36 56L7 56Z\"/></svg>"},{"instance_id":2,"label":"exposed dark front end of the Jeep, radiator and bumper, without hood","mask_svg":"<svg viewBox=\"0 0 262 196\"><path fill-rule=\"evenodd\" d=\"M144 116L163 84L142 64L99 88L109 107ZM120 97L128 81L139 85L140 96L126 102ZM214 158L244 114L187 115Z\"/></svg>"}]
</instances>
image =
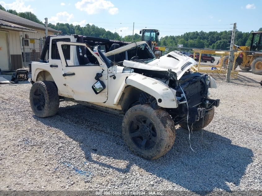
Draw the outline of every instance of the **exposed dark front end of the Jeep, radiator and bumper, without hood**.
<instances>
[{"instance_id":1,"label":"exposed dark front end of the Jeep, radiator and bumper, without hood","mask_svg":"<svg viewBox=\"0 0 262 196\"><path fill-rule=\"evenodd\" d=\"M207 74L186 72L178 81L170 84L176 90L177 108L168 109L174 123L187 121L189 124L203 118L212 107L218 107L219 99L208 98L208 88L213 78ZM213 84L214 85L214 84ZM216 85L212 87L216 88Z\"/></svg>"}]
</instances>

